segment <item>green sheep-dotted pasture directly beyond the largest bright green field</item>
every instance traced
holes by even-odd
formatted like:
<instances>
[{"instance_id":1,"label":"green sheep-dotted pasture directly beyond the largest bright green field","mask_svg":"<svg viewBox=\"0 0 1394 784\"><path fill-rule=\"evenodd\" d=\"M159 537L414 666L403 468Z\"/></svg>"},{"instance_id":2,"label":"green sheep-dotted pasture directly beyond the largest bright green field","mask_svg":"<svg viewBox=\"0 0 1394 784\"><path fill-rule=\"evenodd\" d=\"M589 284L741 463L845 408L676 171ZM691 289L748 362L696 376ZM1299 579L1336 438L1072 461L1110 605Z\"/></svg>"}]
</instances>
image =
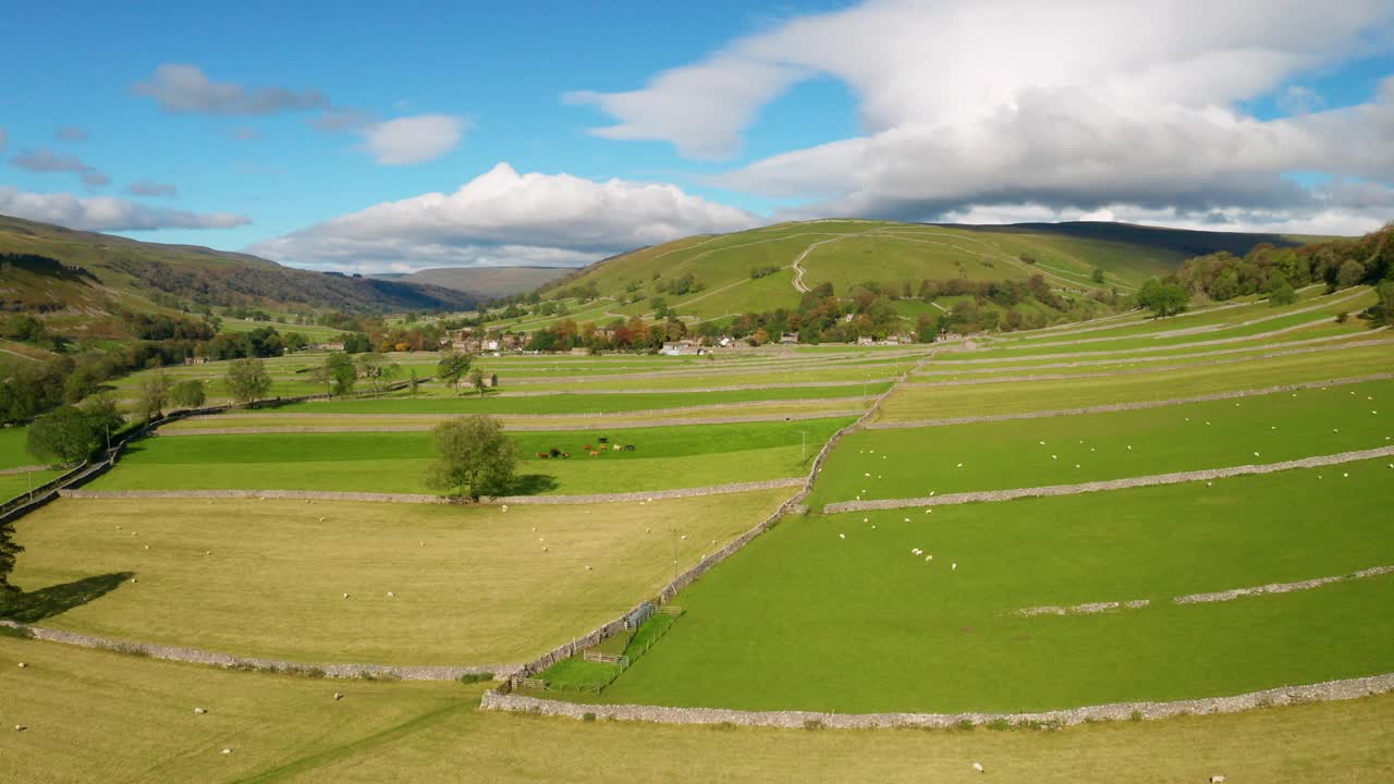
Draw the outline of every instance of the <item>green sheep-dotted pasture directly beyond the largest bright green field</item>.
<instances>
[{"instance_id":1,"label":"green sheep-dotted pasture directly beyond the largest bright green field","mask_svg":"<svg viewBox=\"0 0 1394 784\"><path fill-rule=\"evenodd\" d=\"M1394 381L1133 412L861 430L824 463L810 505L1278 463L1394 446L1391 438Z\"/></svg>"}]
</instances>

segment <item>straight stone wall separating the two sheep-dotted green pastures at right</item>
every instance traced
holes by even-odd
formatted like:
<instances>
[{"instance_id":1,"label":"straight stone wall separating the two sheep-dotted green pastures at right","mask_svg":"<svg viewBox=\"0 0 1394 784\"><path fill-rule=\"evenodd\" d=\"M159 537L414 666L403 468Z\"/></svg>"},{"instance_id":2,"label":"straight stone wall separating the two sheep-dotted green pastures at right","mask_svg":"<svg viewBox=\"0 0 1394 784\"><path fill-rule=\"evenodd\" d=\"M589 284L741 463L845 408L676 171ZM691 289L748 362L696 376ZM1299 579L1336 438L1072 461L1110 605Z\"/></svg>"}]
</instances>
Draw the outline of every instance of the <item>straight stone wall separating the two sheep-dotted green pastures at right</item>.
<instances>
[{"instance_id":1,"label":"straight stone wall separating the two sheep-dotted green pastures at right","mask_svg":"<svg viewBox=\"0 0 1394 784\"><path fill-rule=\"evenodd\" d=\"M1256 466L1230 466L1225 469L1204 469L1199 472L1175 472L1170 474L1153 474L1129 478L1111 478L1104 481L1086 481L1080 484L1051 484L1044 487L1015 487L1011 490L981 490L977 492L949 492L945 495L930 495L921 498L882 498L877 501L839 501L822 508L824 513L838 512L867 512L873 509L906 509L910 506L947 506L953 504L973 504L977 501L1011 501L1013 498L1043 498L1051 495L1075 495L1079 492L1098 492L1104 490L1126 490L1131 487L1157 487L1163 484L1181 484L1188 481L1203 481L1250 474L1271 474L1292 469L1316 469L1320 466L1337 466L1354 463L1356 460L1372 460L1374 458L1388 458L1394 455L1394 446L1380 446L1377 449L1361 449L1356 452L1338 452L1335 455L1319 455L1315 458L1301 458L1296 460L1282 460L1278 463L1263 463ZM1391 477L1394 481L1394 477Z\"/></svg>"}]
</instances>

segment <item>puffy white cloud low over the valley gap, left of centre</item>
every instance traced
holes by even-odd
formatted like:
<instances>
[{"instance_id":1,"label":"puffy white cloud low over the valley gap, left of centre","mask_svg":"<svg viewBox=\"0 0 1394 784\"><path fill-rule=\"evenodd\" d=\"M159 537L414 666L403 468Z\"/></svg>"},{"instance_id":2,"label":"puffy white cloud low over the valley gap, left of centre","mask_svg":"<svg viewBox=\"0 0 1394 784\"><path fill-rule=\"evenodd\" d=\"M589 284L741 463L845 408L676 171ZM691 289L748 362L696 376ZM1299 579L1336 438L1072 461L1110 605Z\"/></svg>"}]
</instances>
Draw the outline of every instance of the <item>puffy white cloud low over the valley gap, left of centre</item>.
<instances>
[{"instance_id":1,"label":"puffy white cloud low over the valley gap, left of centre","mask_svg":"<svg viewBox=\"0 0 1394 784\"><path fill-rule=\"evenodd\" d=\"M351 271L579 266L638 246L749 229L756 222L676 186L519 174L499 163L453 194L379 204L250 250L283 264Z\"/></svg>"}]
</instances>

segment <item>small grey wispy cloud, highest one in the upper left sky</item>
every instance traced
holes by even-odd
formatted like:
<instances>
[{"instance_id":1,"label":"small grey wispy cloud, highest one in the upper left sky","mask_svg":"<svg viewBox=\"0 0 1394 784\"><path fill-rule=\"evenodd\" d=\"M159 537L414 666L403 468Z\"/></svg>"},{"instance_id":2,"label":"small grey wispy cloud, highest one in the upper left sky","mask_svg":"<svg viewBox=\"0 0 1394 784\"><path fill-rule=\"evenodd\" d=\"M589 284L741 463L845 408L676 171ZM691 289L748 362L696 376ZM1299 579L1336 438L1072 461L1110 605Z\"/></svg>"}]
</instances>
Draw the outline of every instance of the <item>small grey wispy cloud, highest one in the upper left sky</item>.
<instances>
[{"instance_id":1,"label":"small grey wispy cloud, highest one in the upper left sky","mask_svg":"<svg viewBox=\"0 0 1394 784\"><path fill-rule=\"evenodd\" d=\"M148 81L131 88L155 99L166 112L243 116L326 109L329 99L316 89L280 86L248 89L234 82L215 82L198 66L166 63Z\"/></svg>"}]
</instances>

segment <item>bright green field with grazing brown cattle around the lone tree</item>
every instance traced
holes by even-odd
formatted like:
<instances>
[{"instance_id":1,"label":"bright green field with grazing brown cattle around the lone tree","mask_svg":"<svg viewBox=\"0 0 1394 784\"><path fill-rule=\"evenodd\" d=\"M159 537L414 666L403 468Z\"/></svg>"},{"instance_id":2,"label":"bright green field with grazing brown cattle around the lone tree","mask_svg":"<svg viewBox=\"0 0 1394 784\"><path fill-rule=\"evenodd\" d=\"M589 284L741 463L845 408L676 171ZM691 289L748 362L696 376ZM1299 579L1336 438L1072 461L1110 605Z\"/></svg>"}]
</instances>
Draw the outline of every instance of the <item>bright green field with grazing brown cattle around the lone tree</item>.
<instances>
[{"instance_id":1,"label":"bright green field with grazing brown cattle around the lone tree","mask_svg":"<svg viewBox=\"0 0 1394 784\"><path fill-rule=\"evenodd\" d=\"M509 494L630 492L800 476L822 442L852 421L517 432L517 481ZM599 451L602 437L636 449L590 456L584 446ZM553 446L572 458L537 456ZM431 492L421 477L434 459L429 432L162 437L128 446L120 470L92 488Z\"/></svg>"}]
</instances>

